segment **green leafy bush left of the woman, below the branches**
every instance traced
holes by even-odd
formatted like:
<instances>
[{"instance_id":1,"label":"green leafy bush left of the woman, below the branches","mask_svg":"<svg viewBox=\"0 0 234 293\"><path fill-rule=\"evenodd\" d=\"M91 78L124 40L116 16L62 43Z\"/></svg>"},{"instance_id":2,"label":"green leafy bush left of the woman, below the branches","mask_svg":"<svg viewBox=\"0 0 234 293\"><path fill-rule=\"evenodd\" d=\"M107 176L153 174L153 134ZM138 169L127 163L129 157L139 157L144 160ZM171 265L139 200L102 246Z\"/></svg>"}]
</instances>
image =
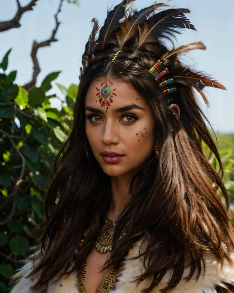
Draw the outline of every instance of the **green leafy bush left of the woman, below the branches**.
<instances>
[{"instance_id":1,"label":"green leafy bush left of the woman, below the branches","mask_svg":"<svg viewBox=\"0 0 234 293\"><path fill-rule=\"evenodd\" d=\"M40 231L32 230L43 219L47 177L68 135L78 92L75 84L69 89L57 84L67 105L61 111L51 108L49 99L56 95L47 92L60 72L50 73L28 92L14 83L16 71L5 72L9 53L0 64L1 293L7 292L8 279L21 266L15 261L29 255L29 247L39 238Z\"/></svg>"}]
</instances>

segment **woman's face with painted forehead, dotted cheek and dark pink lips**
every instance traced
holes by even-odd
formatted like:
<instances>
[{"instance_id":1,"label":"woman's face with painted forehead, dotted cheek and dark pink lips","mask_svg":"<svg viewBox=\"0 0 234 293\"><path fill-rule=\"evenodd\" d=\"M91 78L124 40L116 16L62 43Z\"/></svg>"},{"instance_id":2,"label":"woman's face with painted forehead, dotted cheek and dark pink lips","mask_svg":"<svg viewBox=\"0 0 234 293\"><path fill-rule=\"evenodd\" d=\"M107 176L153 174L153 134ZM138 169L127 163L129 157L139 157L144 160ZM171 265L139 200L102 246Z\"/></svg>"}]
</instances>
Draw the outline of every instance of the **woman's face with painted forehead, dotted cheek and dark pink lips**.
<instances>
[{"instance_id":1,"label":"woman's face with painted forehead, dotted cheek and dark pink lips","mask_svg":"<svg viewBox=\"0 0 234 293\"><path fill-rule=\"evenodd\" d=\"M153 112L145 99L123 80L94 81L85 97L85 115L87 139L107 175L134 173L154 152ZM105 151L122 156L104 156Z\"/></svg>"}]
</instances>

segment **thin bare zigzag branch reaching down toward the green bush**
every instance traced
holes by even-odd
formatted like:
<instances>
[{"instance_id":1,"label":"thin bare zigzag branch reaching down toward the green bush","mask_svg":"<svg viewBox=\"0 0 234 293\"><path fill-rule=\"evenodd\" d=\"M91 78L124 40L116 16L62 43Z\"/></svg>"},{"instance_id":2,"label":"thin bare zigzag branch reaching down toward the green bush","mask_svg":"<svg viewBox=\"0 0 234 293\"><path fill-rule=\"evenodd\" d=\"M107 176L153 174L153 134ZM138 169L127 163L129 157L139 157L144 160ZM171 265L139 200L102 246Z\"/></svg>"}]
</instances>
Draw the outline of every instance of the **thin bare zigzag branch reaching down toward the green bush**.
<instances>
[{"instance_id":1,"label":"thin bare zigzag branch reaching down toward the green bush","mask_svg":"<svg viewBox=\"0 0 234 293\"><path fill-rule=\"evenodd\" d=\"M33 72L33 79L31 82L29 82L28 84L25 84L23 87L26 90L30 90L33 86L35 86L36 82L37 82L37 77L40 73L40 67L39 67L39 61L38 61L38 57L37 57L37 52L38 49L41 47L45 47L45 46L49 46L51 42L57 42L58 40L55 39L55 35L57 33L58 27L60 25L60 22L58 21L58 14L61 11L61 7L62 7L62 2L64 0L60 0L60 4L59 4L59 8L58 11L56 12L56 14L54 15L55 17L55 21L56 21L56 26L55 29L52 31L51 37L50 39L44 41L44 42L36 42L34 41L33 43L33 47L32 47L32 52L31 52L31 57L33 59L33 64L34 64L34 72Z\"/></svg>"}]
</instances>

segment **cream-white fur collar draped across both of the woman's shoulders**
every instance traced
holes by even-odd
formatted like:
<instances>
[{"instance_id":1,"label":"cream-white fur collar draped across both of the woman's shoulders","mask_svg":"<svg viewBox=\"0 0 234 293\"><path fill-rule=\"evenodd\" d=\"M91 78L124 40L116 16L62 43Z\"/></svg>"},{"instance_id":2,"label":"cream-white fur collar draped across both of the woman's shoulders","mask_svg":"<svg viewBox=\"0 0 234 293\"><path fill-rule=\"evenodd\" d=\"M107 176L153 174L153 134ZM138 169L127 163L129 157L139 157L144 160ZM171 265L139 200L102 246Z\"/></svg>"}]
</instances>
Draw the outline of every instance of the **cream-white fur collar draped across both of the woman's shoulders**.
<instances>
[{"instance_id":1,"label":"cream-white fur collar draped across both of the woman's shoulders","mask_svg":"<svg viewBox=\"0 0 234 293\"><path fill-rule=\"evenodd\" d=\"M143 240L139 241L141 245ZM145 242L146 243L146 242ZM119 277L119 282L117 283L117 288L115 293L141 293L141 290L148 287L151 280L148 278L140 283L138 287L130 281L134 280L134 277L139 276L144 268L142 261L138 259L129 260L129 257L136 256L139 254L140 246L135 247L134 250L129 251L129 254L124 260L124 269L121 272L121 277ZM234 260L234 252L231 253L231 257ZM234 285L234 267L225 261L223 267L221 267L220 262L214 254L207 251L205 254L206 261L206 272L203 277L201 274L198 281L195 283L194 279L189 282L183 280L184 277L188 276L190 268L186 268L183 274L183 278L179 285L170 291L170 293L217 293L215 287L221 286L226 288L225 283ZM16 283L10 293L78 293L78 279L77 272L74 271L68 278L54 277L46 286L46 288L41 288L37 292L31 292L29 290L30 286L36 283L37 277L32 279L25 279L28 275L30 269L32 269L32 261L26 263L18 272L14 275L15 278L21 277L20 281ZM152 293L160 293L159 290L166 287L166 283L170 279L172 270L168 270L161 280L160 284L152 291Z\"/></svg>"}]
</instances>

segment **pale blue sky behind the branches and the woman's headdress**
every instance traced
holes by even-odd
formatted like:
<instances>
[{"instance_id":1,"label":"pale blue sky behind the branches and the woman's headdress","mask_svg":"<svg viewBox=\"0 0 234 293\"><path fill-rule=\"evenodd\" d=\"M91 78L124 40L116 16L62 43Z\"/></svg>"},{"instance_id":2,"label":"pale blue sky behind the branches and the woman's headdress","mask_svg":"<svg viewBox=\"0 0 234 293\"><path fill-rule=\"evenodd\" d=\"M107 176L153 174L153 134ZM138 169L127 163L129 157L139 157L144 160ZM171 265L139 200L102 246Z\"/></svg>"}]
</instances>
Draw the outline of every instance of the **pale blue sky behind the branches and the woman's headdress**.
<instances>
[{"instance_id":1,"label":"pale blue sky behind the branches and the woman's headdress","mask_svg":"<svg viewBox=\"0 0 234 293\"><path fill-rule=\"evenodd\" d=\"M30 0L19 0L24 6ZM69 87L78 84L79 67L85 43L90 35L90 21L97 17L103 25L107 8L114 7L120 0L80 0L80 5L65 2L58 18L61 22L56 38L50 46L38 51L41 72L37 86L50 72L62 71L50 94L56 93L65 100L55 83ZM157 1L161 2L161 1ZM165 2L162 0L162 2ZM136 0L135 8L152 5L154 0ZM234 0L226 0L222 5L216 0L171 0L174 8L189 8L186 16L197 31L184 30L178 37L177 46L190 42L204 42L207 49L191 51L183 58L193 70L203 71L224 84L227 91L205 87L210 102L209 108L198 95L198 103L216 132L234 133ZM21 18L21 27L0 33L0 59L9 48L7 73L17 70L16 83L27 84L32 79L33 63L30 57L33 41L44 41L50 37L55 27L54 14L59 0L38 0L33 11L28 11ZM0 0L0 20L14 17L17 11L16 0ZM57 98L50 99L51 106L61 109L62 103Z\"/></svg>"}]
</instances>

